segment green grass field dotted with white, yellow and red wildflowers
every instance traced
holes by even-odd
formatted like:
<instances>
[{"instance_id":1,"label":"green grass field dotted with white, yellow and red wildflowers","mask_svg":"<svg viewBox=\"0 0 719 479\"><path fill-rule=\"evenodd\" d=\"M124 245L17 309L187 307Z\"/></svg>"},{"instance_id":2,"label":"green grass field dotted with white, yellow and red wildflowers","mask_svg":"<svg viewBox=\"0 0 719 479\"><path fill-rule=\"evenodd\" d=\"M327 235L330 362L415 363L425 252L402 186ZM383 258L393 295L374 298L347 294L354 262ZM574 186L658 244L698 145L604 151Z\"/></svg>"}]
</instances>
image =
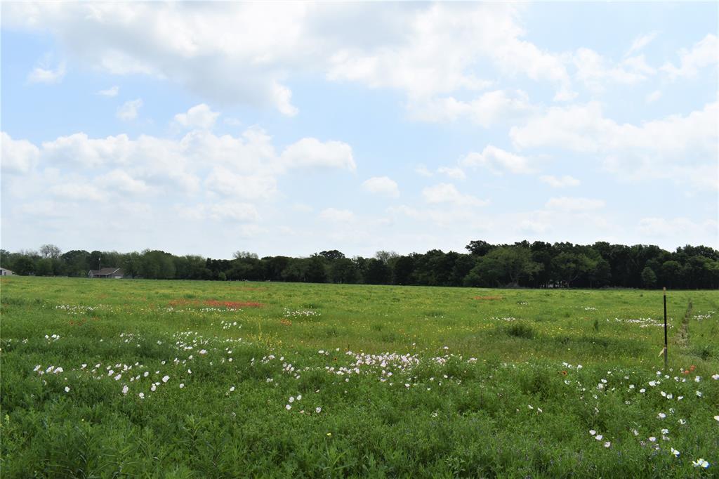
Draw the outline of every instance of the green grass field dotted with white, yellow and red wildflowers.
<instances>
[{"instance_id":1,"label":"green grass field dotted with white, yellow and red wildflowers","mask_svg":"<svg viewBox=\"0 0 719 479\"><path fill-rule=\"evenodd\" d=\"M661 301L3 278L0 472L717 475L719 292L669 292L669 370Z\"/></svg>"}]
</instances>

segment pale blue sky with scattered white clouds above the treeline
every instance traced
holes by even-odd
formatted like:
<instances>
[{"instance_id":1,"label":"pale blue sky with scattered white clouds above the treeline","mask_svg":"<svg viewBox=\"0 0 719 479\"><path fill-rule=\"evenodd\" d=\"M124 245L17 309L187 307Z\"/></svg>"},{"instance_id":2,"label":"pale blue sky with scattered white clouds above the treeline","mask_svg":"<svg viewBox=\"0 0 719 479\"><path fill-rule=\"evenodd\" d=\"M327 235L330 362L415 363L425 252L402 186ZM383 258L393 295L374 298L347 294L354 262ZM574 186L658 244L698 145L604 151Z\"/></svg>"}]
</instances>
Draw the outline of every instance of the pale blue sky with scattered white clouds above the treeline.
<instances>
[{"instance_id":1,"label":"pale blue sky with scattered white clouds above the treeline","mask_svg":"<svg viewBox=\"0 0 719 479\"><path fill-rule=\"evenodd\" d=\"M1 8L1 247L719 247L704 3Z\"/></svg>"}]
</instances>

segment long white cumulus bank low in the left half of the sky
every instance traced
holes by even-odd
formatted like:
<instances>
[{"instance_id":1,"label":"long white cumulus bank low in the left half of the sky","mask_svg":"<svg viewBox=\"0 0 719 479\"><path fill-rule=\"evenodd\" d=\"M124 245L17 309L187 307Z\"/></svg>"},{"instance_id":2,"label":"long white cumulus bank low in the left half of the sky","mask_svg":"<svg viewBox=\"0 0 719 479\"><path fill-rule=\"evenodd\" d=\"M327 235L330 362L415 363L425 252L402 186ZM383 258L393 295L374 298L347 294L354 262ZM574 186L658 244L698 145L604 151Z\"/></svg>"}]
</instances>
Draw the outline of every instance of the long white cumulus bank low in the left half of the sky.
<instances>
[{"instance_id":1,"label":"long white cumulus bank low in the left half of the sky","mask_svg":"<svg viewBox=\"0 0 719 479\"><path fill-rule=\"evenodd\" d=\"M352 148L343 142L303 138L281 155L272 137L249 128L239 137L193 130L180 140L142 134L91 138L70 134L43 142L13 140L2 132L2 165L8 173L28 173L36 165L96 175L93 182L116 193L208 193L242 199L270 199L277 177L291 169L316 166L354 171Z\"/></svg>"}]
</instances>

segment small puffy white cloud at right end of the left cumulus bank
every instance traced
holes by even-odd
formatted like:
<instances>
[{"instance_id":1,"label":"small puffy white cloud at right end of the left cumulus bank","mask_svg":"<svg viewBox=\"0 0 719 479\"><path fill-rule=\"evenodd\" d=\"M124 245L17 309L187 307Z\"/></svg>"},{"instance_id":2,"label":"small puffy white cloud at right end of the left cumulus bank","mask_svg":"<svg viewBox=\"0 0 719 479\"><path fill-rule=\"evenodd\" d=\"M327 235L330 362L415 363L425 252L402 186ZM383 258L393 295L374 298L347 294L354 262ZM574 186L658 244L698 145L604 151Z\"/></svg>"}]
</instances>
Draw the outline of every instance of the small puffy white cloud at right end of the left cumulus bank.
<instances>
[{"instance_id":1,"label":"small puffy white cloud at right end of the left cumulus bank","mask_svg":"<svg viewBox=\"0 0 719 479\"><path fill-rule=\"evenodd\" d=\"M316 138L303 138L286 147L280 160L288 168L340 168L349 171L357 169L352 158L352 147L347 143L323 143Z\"/></svg>"}]
</instances>

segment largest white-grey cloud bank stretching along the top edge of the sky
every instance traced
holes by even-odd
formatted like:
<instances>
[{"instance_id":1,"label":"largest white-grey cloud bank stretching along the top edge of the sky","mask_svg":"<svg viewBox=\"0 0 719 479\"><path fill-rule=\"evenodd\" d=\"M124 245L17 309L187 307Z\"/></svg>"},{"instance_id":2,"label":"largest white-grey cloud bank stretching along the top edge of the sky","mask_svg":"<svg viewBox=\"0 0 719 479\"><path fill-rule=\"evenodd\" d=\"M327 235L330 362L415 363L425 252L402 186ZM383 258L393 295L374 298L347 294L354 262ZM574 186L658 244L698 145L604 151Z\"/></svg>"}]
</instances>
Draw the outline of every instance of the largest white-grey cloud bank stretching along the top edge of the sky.
<instances>
[{"instance_id":1,"label":"largest white-grey cloud bank stretching along the top edge of the sky","mask_svg":"<svg viewBox=\"0 0 719 479\"><path fill-rule=\"evenodd\" d=\"M485 63L549 81L569 99L562 55L524 39L518 4L8 4L4 24L51 32L77 60L169 80L214 104L294 115L285 81L307 72L409 99L487 88ZM363 25L372 24L372 35ZM92 38L88 42L88 38Z\"/></svg>"}]
</instances>

